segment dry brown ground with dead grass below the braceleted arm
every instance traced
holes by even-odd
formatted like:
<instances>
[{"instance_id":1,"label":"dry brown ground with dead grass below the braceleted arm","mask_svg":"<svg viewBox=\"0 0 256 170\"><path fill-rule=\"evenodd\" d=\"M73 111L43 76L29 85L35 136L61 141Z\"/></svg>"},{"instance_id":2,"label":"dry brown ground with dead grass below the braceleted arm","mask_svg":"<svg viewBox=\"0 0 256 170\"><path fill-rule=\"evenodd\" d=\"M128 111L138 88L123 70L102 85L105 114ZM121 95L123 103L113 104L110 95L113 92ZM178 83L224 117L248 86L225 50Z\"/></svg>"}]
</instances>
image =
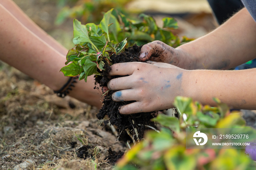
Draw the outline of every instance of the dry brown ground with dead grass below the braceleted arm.
<instances>
[{"instance_id":1,"label":"dry brown ground with dead grass below the braceleted arm","mask_svg":"<svg viewBox=\"0 0 256 170\"><path fill-rule=\"evenodd\" d=\"M112 169L108 155L126 150L102 130L94 107L59 98L3 63L0 78L0 169L19 169L24 162L31 162L26 169ZM84 145L91 158L81 160L76 153Z\"/></svg>"}]
</instances>

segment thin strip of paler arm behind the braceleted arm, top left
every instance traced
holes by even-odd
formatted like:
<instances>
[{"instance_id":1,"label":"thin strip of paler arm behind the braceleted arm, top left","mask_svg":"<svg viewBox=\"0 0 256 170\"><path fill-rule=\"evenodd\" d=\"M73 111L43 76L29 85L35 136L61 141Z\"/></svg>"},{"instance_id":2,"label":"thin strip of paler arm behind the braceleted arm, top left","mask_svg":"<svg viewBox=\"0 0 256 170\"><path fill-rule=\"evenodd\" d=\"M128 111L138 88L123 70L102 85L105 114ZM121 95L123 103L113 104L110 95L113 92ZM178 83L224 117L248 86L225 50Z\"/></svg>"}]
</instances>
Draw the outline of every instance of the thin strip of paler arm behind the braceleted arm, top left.
<instances>
[{"instance_id":1,"label":"thin strip of paler arm behind the braceleted arm, top left","mask_svg":"<svg viewBox=\"0 0 256 170\"><path fill-rule=\"evenodd\" d=\"M12 15L19 20L21 24L52 46L55 50L59 51L63 55L67 54L67 49L65 49L65 47L60 45L54 38L49 36L44 30L42 30L42 28L35 24L12 0L1 0L0 4L12 13Z\"/></svg>"}]
</instances>

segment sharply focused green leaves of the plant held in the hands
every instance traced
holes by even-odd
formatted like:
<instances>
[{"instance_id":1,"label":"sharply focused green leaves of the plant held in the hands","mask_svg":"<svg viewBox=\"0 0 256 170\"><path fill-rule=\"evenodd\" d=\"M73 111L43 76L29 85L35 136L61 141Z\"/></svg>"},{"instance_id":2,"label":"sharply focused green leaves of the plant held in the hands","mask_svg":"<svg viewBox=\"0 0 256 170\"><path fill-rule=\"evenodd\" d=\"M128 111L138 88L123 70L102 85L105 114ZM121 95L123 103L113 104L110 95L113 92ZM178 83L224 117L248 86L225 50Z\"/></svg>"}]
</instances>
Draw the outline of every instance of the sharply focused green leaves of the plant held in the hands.
<instances>
[{"instance_id":1,"label":"sharply focused green leaves of the plant held in the hands","mask_svg":"<svg viewBox=\"0 0 256 170\"><path fill-rule=\"evenodd\" d=\"M65 76L80 75L79 80L85 79L87 81L88 76L99 75L97 69L104 70L104 63L111 64L109 57L118 54L123 49L127 43L126 39L119 45L113 45L113 40L110 41L109 39L108 26L111 21L112 10L105 13L99 25L94 23L82 25L74 19L73 42L76 46L68 51L65 64L71 61L72 63L61 69Z\"/></svg>"}]
</instances>

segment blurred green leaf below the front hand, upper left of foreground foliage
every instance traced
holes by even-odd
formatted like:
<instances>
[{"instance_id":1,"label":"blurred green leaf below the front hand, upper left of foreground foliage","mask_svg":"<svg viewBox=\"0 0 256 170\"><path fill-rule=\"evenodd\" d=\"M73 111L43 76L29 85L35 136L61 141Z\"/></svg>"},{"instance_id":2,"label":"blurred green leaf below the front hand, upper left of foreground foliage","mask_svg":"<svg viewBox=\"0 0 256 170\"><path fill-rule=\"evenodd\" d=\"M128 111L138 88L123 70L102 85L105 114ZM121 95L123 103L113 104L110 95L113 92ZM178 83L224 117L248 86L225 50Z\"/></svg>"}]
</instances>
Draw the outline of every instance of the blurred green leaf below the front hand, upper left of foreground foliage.
<instances>
[{"instance_id":1,"label":"blurred green leaf below the front hand, upper left of foreground foliage","mask_svg":"<svg viewBox=\"0 0 256 170\"><path fill-rule=\"evenodd\" d=\"M162 124L163 126L169 127L173 131L180 132L180 122L175 117L159 114L157 117L152 119L152 121L156 121Z\"/></svg>"}]
</instances>

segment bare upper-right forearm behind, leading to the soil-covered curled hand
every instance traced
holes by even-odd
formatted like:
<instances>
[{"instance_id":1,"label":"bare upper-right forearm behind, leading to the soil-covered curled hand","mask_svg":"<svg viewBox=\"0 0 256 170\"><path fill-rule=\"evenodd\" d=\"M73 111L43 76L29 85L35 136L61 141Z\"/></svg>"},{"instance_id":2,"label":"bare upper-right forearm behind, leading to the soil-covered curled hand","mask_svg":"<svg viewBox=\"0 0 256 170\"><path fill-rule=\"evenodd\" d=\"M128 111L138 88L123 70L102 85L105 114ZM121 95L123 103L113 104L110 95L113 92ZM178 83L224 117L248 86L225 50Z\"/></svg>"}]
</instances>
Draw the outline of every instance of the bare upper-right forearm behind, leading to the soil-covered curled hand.
<instances>
[{"instance_id":1,"label":"bare upper-right forearm behind, leading to the soil-covered curled hand","mask_svg":"<svg viewBox=\"0 0 256 170\"><path fill-rule=\"evenodd\" d=\"M214 31L177 47L184 69L229 69L245 63L256 54L256 22L242 9Z\"/></svg>"}]
</instances>

